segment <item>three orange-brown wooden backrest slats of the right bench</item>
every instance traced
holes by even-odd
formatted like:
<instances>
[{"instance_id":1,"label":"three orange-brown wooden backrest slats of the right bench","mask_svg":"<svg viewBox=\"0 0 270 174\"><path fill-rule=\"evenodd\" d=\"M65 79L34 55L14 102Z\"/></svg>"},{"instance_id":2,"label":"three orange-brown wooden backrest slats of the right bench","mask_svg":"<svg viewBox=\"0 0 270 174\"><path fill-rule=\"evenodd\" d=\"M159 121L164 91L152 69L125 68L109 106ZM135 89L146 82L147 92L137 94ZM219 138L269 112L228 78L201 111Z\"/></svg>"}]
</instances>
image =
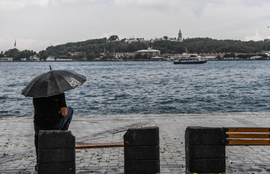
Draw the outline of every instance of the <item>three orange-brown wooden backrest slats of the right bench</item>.
<instances>
[{"instance_id":1,"label":"three orange-brown wooden backrest slats of the right bench","mask_svg":"<svg viewBox=\"0 0 270 174\"><path fill-rule=\"evenodd\" d=\"M226 127L225 146L268 146L270 128L261 127Z\"/></svg>"}]
</instances>

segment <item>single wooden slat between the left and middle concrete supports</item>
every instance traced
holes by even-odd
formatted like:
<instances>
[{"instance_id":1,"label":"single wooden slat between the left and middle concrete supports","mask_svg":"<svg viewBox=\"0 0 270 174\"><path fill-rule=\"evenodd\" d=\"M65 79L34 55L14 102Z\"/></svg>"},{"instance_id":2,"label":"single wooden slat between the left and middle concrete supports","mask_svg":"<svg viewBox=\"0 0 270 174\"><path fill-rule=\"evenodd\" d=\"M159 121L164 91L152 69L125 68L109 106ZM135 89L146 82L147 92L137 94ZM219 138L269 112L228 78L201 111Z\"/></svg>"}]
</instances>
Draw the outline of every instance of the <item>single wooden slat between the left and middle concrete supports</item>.
<instances>
[{"instance_id":1,"label":"single wooden slat between the left and middle concrete supports","mask_svg":"<svg viewBox=\"0 0 270 174\"><path fill-rule=\"evenodd\" d=\"M124 147L124 142L112 143L83 143L76 142L76 149L94 149L94 148L107 148L107 147Z\"/></svg>"}]
</instances>

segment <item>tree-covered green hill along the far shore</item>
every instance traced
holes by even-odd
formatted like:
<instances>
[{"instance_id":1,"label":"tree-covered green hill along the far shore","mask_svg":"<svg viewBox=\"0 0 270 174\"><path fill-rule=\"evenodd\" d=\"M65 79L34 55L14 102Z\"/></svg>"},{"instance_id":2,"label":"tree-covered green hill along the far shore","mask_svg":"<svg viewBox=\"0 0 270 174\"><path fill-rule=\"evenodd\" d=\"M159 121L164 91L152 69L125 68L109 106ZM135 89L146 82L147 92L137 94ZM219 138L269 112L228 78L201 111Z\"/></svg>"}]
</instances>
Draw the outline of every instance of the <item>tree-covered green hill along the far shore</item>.
<instances>
[{"instance_id":1,"label":"tree-covered green hill along the far shore","mask_svg":"<svg viewBox=\"0 0 270 174\"><path fill-rule=\"evenodd\" d=\"M175 42L169 40L155 41L154 43L132 43L128 44L121 41L112 42L112 38L118 38L117 36L111 36L109 39L91 39L80 42L70 42L67 44L61 44L56 46L49 46L46 50L39 51L38 56L40 58L46 58L50 55L55 57L67 56L68 58L76 58L80 60L87 57L88 60L92 60L100 56L101 52L112 53L114 52L135 52L142 49L147 49L149 46L153 49L161 51L161 54L182 54L186 52L185 47L190 53L227 53L227 52L240 52L240 53L260 53L261 50L270 50L270 42L264 41L240 41L240 40L217 40L211 38L190 38L185 39L183 42ZM69 52L82 52L77 56L71 56ZM36 52L25 50L19 51L11 49L5 51L6 57L13 57L15 60L20 58L29 58L31 55L36 55ZM1 54L0 54L1 57Z\"/></svg>"}]
</instances>

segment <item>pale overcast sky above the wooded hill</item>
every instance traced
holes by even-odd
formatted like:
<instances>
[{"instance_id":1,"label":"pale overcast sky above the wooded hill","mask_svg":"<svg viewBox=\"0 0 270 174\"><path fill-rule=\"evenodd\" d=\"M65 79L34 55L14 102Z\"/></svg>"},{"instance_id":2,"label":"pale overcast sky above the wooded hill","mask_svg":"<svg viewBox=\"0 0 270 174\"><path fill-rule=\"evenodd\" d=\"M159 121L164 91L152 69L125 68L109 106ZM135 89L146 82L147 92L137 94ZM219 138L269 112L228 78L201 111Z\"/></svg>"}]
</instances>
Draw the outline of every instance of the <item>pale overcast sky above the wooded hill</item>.
<instances>
[{"instance_id":1,"label":"pale overcast sky above the wooded hill","mask_svg":"<svg viewBox=\"0 0 270 174\"><path fill-rule=\"evenodd\" d=\"M119 39L270 38L269 0L0 0L0 51Z\"/></svg>"}]
</instances>

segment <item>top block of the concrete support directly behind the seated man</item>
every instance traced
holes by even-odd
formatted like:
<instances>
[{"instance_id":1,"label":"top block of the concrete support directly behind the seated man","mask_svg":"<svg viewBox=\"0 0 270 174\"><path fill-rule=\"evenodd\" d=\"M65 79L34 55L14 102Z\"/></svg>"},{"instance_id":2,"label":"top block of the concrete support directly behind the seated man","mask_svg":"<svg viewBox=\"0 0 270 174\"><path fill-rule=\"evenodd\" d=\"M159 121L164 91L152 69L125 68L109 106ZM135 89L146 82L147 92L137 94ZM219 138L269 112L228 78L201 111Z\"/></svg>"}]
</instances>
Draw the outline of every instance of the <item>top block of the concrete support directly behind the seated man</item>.
<instances>
[{"instance_id":1,"label":"top block of the concrete support directly behind the seated man","mask_svg":"<svg viewBox=\"0 0 270 174\"><path fill-rule=\"evenodd\" d=\"M75 149L75 136L70 130L40 130L39 149Z\"/></svg>"}]
</instances>

